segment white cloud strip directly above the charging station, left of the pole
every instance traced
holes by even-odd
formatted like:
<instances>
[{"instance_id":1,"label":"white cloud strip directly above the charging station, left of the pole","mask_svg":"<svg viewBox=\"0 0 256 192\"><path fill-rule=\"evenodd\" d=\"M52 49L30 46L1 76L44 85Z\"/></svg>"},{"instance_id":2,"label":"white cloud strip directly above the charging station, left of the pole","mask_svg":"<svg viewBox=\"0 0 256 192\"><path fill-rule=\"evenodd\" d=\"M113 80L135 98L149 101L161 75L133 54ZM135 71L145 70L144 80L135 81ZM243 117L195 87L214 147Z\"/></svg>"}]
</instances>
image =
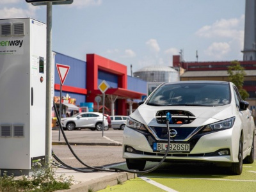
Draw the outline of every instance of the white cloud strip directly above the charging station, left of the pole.
<instances>
[{"instance_id":1,"label":"white cloud strip directly above the charging station, left of the pole","mask_svg":"<svg viewBox=\"0 0 256 192\"><path fill-rule=\"evenodd\" d=\"M3 8L0 10L0 18L17 18L17 17L35 17L35 10L37 8L30 6L29 10L21 8Z\"/></svg>"}]
</instances>

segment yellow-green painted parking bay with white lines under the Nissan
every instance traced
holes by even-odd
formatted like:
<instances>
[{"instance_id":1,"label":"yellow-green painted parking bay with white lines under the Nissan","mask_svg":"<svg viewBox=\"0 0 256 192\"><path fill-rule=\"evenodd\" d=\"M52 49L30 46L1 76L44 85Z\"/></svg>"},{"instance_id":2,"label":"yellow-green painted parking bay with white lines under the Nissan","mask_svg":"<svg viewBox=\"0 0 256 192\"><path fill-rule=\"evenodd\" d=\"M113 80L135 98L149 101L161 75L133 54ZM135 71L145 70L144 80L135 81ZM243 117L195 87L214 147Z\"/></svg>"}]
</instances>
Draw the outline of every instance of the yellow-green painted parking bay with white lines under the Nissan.
<instances>
[{"instance_id":1,"label":"yellow-green painted parking bay with white lines under the Nissan","mask_svg":"<svg viewBox=\"0 0 256 192\"><path fill-rule=\"evenodd\" d=\"M154 165L148 163L146 168ZM163 163L154 172L138 174L136 179L100 190L107 191L256 191L256 162L243 164L241 175L209 164Z\"/></svg>"}]
</instances>

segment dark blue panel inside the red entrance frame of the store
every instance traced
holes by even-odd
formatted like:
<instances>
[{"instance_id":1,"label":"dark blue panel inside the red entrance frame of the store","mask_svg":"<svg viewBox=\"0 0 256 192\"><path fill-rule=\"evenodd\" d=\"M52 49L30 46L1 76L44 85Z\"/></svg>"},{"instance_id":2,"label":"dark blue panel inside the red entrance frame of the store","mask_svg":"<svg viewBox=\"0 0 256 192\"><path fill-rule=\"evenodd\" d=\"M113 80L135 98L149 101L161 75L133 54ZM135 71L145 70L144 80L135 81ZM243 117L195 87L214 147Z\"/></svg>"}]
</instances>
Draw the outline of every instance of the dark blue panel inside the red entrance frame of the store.
<instances>
[{"instance_id":1,"label":"dark blue panel inside the red entrance frame of the store","mask_svg":"<svg viewBox=\"0 0 256 192\"><path fill-rule=\"evenodd\" d=\"M118 88L118 76L98 70L98 86L103 80L108 83L109 88Z\"/></svg>"}]
</instances>

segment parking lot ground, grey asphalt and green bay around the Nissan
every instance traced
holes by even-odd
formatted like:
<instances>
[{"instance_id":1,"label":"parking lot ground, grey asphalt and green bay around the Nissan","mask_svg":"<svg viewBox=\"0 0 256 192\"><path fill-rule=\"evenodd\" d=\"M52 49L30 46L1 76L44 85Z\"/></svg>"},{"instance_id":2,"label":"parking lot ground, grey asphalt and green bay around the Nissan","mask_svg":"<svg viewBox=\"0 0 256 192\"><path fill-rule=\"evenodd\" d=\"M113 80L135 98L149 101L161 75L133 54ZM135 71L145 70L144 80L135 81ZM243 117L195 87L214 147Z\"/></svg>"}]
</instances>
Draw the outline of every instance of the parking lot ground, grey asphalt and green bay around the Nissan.
<instances>
[{"instance_id":1,"label":"parking lot ground, grey asphalt and green bay around the Nissan","mask_svg":"<svg viewBox=\"0 0 256 192\"><path fill-rule=\"evenodd\" d=\"M70 141L101 141L122 143L122 131L111 130L100 131L65 131ZM52 141L58 140L58 130L52 131ZM61 141L63 138L61 138ZM111 141L110 141L111 140ZM104 142L103 142L104 141ZM78 142L77 142L78 143ZM88 144L89 145L89 144ZM65 161L75 162L74 157L67 152L67 147L53 146L60 156L65 156ZM124 159L122 159L122 147L116 145L109 146L73 146L79 156L84 161L89 161L92 166L111 166L127 169ZM64 151L63 149L66 148ZM61 150L63 154L61 154ZM93 162L93 161L94 162ZM98 164L95 161L99 161ZM112 161L112 162L111 162ZM94 163L94 164L93 164ZM121 163L121 164L120 164ZM117 164L117 165L116 165ZM156 163L147 163L147 168L156 165ZM128 180L123 184L111 186L101 191L255 191L256 188L256 163L244 164L241 175L231 175L227 168L212 166L211 164L174 164L163 163L160 168L154 172L140 175L138 178Z\"/></svg>"}]
</instances>

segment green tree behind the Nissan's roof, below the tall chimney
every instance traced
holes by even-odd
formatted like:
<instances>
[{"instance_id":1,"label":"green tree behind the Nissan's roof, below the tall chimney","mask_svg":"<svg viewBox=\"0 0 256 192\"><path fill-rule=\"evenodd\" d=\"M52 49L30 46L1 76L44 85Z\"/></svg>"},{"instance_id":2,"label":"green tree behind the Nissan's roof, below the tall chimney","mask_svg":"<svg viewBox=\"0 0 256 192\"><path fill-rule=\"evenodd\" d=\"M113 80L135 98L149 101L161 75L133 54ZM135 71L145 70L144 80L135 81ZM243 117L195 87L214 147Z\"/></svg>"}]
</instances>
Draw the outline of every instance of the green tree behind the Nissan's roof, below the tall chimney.
<instances>
[{"instance_id":1,"label":"green tree behind the Nissan's roof, below the tall chimney","mask_svg":"<svg viewBox=\"0 0 256 192\"><path fill-rule=\"evenodd\" d=\"M242 97L242 99L246 99L249 97L249 93L243 89L244 84L244 76L246 73L244 72L244 67L240 65L238 61L231 61L231 65L228 67L228 80L234 83Z\"/></svg>"}]
</instances>

